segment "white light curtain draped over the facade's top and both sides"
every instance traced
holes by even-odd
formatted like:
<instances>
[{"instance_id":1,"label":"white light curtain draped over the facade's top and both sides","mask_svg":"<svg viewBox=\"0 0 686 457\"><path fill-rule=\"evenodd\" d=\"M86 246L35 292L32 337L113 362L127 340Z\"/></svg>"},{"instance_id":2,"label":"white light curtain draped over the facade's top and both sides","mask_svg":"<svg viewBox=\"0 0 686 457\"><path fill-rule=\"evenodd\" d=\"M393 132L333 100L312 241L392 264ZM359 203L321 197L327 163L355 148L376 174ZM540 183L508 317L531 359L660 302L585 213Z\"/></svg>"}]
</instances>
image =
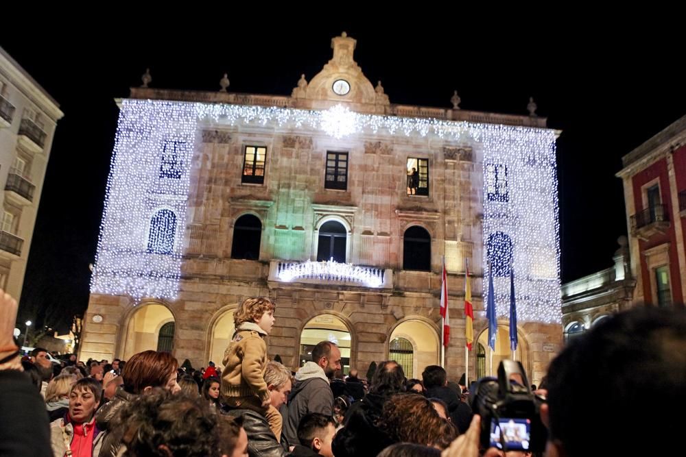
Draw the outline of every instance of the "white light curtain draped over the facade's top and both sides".
<instances>
[{"instance_id":1,"label":"white light curtain draped over the facade's top and both sides","mask_svg":"<svg viewBox=\"0 0 686 457\"><path fill-rule=\"evenodd\" d=\"M435 135L481 143L484 164L508 167L507 202L488 201L484 176L484 240L495 232L504 232L512 240L519 320L560 321L557 178L551 129L358 114L342 106L316 111L123 101L91 282L93 293L165 299L178 294L189 171L200 123L315 129L334 138L363 133ZM160 177L169 142L178 146L178 179ZM174 237L171 254L156 254L164 252L162 248L147 249L152 217L161 209L176 216L176 233L170 235ZM169 242L164 236L157 238L161 243ZM484 270L488 273L485 256L486 249ZM497 277L494 282L498 314L502 316L507 315L508 281L508 277Z\"/></svg>"}]
</instances>

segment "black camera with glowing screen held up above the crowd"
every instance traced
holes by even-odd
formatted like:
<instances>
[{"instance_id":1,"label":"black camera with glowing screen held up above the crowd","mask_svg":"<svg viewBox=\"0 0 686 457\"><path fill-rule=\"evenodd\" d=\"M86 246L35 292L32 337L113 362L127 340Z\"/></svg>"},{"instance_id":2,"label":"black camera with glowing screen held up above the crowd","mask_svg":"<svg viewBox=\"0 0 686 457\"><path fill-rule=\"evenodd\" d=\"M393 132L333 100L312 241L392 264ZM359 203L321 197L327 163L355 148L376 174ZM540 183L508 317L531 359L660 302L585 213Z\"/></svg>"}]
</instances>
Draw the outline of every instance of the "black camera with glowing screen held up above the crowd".
<instances>
[{"instance_id":1,"label":"black camera with glowing screen held up above the crowd","mask_svg":"<svg viewBox=\"0 0 686 457\"><path fill-rule=\"evenodd\" d=\"M512 380L521 376L522 384ZM503 451L543 452L547 429L541 421L543 397L534 395L520 362L502 360L498 378L472 385L472 410L481 416L480 445Z\"/></svg>"}]
</instances>

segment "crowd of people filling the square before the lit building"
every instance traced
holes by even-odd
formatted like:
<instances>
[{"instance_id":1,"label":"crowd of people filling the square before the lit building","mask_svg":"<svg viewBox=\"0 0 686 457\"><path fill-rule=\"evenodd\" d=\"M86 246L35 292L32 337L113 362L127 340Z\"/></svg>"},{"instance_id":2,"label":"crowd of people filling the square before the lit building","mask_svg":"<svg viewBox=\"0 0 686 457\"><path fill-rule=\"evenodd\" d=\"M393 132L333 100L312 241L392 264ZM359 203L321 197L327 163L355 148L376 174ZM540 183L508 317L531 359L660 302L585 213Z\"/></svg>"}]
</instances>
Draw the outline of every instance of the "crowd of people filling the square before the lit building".
<instances>
[{"instance_id":1,"label":"crowd of people filling the square before the lit building","mask_svg":"<svg viewBox=\"0 0 686 457\"><path fill-rule=\"evenodd\" d=\"M442 367L408 380L386 360L370 380L355 369L346 377L329 341L296 373L269 360L275 309L264 297L239 306L222 369L179 367L171 354L152 350L111 363L73 356L62 367L41 348L22 360L12 337L16 301L0 291L0 455L531 455L484 446L466 386L449 382ZM671 450L678 421L667 420L667 408L684 404L685 354L683 310L635 308L569 343L536 391L549 430L546 455ZM597 395L580 393L590 385ZM646 401L647 392L655 399ZM642 439L628 427L638 411L650 415Z\"/></svg>"}]
</instances>

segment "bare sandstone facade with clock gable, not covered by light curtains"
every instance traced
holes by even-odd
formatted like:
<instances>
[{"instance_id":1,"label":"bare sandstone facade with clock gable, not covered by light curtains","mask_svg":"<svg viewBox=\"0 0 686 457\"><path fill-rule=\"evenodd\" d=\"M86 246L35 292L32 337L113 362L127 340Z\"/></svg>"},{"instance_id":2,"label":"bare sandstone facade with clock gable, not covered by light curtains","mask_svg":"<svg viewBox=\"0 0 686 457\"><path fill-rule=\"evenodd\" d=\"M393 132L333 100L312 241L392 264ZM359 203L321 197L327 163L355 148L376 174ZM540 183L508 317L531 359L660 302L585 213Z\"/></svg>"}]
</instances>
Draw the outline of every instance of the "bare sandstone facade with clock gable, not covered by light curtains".
<instances>
[{"instance_id":1,"label":"bare sandstone facade with clock gable, not covered by light curtains","mask_svg":"<svg viewBox=\"0 0 686 457\"><path fill-rule=\"evenodd\" d=\"M315 112L344 103L357 113L545 127L545 119L533 116L392 105L380 82L373 86L354 62L355 40L343 35L333 39L332 47L333 59L309 83L303 76L292 97L146 87L132 89L131 99L276 106ZM347 94L331 90L339 79L350 85ZM193 366L204 366L223 352L226 335L220 335L220 330L230 312L244 298L263 295L277 305L276 324L268 341L270 356L278 354L292 369L301 363L300 356L306 350L301 336L314 317L333 322L324 328L348 332L349 366L361 373L372 361L389 358L394 336L410 339L415 354L422 354L422 364L429 359L438 364L445 256L452 316L445 360L449 376L460 376L465 365L465 260L470 260L470 269L475 272L471 278L475 338L487 328L481 293L484 146L480 141L466 135L441 138L388 129L335 138L318 125L285 121L256 124L223 115L202 118L196 138L188 171L185 230L178 243L178 295L173 299L136 299L126 294L92 293L84 319L81 358L124 357L135 333L131 330L134 315L145 306L161 305L168 308L176 323L175 356L180 361L188 358ZM266 151L263 180L257 184L244 180L247 147ZM325 171L330 151L348 154L344 189L327 188ZM408 158L428 164L428 195L409 192ZM255 260L232 258L237 221L246 215L259 220L259 254ZM340 237L345 241L345 262L375 271L382 277L380 284L369 286L336 277L284 279L284 269L317 260L322 243L320 229L332 221L344 229ZM403 257L403 253L408 243L405 234L411 227L421 227L429 234L426 271L404 269L407 256ZM100 252L107 248L101 246ZM95 274L99 274L97 266ZM414 336L407 334L411 328L417 330ZM521 322L519 333L518 358L532 382L538 382L561 345L560 325ZM474 379L476 351L469 357L470 378ZM421 375L422 369L415 367L414 376Z\"/></svg>"}]
</instances>

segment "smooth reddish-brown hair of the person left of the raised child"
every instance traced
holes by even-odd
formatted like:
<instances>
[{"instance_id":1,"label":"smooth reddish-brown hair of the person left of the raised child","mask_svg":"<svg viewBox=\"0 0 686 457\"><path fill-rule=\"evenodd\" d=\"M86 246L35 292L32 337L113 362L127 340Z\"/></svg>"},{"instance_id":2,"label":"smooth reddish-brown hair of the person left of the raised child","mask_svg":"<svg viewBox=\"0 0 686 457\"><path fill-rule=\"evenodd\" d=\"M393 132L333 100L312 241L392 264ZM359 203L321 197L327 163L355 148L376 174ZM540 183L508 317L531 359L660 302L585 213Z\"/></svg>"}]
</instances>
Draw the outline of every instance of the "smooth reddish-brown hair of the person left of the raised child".
<instances>
[{"instance_id":1,"label":"smooth reddish-brown hair of the person left of the raised child","mask_svg":"<svg viewBox=\"0 0 686 457\"><path fill-rule=\"evenodd\" d=\"M124 389L141 393L147 386L164 387L169 375L178 368L176 358L169 352L143 351L134 354L121 371Z\"/></svg>"}]
</instances>

